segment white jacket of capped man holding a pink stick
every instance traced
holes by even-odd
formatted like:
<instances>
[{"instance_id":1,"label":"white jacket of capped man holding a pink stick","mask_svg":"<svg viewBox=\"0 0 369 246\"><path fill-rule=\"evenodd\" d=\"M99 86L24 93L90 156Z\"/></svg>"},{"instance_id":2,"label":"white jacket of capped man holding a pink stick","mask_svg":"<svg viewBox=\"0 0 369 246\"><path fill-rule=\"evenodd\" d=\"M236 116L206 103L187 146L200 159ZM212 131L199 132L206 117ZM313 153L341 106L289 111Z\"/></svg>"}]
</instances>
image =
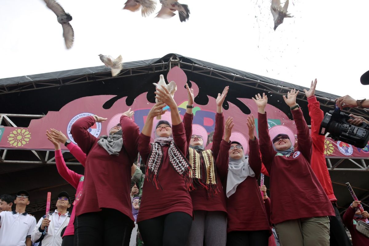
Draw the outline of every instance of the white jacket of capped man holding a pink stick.
<instances>
[{"instance_id":1,"label":"white jacket of capped man holding a pink stick","mask_svg":"<svg viewBox=\"0 0 369 246\"><path fill-rule=\"evenodd\" d=\"M53 221L58 216L59 216L58 213L55 213L55 212L50 213L49 220L51 222L50 222L50 225L49 225L48 232L45 233L44 239L42 239L42 241L41 241L42 246L61 246L62 245L62 237L60 236L60 233L62 232L63 228L68 225L70 215L69 215L69 212L68 212L67 218L65 219L63 224L60 226L58 231L55 233L55 228L54 228ZM41 217L41 219L38 221L37 225L33 229L33 232L32 232L32 235L31 235L32 242L36 242L42 235L42 232L40 230L41 230L41 223L42 223L43 219L44 218Z\"/></svg>"}]
</instances>

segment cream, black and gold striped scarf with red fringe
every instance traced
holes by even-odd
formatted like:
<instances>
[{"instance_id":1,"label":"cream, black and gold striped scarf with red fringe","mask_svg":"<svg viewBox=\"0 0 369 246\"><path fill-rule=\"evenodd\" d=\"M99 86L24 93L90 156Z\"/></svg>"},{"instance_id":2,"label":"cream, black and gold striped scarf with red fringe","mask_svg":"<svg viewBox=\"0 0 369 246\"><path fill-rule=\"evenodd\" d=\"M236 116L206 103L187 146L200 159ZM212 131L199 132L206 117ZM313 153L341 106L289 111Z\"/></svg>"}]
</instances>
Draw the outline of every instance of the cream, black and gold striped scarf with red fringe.
<instances>
[{"instance_id":1,"label":"cream, black and gold striped scarf with red fringe","mask_svg":"<svg viewBox=\"0 0 369 246\"><path fill-rule=\"evenodd\" d=\"M191 172L193 178L190 189L195 190L196 185L200 185L207 190L209 197L218 194L220 191L217 184L217 169L213 152L210 149L198 150L190 147L188 160L192 167Z\"/></svg>"}]
</instances>

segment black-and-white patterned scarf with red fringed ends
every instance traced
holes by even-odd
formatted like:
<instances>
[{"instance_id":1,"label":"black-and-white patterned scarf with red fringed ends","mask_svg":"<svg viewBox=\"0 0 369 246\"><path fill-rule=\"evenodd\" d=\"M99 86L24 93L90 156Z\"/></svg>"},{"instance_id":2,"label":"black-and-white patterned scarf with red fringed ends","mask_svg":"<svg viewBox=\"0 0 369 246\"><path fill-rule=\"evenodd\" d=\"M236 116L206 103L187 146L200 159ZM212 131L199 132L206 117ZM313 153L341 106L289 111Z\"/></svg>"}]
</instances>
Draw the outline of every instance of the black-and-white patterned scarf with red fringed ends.
<instances>
[{"instance_id":1,"label":"black-and-white patterned scarf with red fringed ends","mask_svg":"<svg viewBox=\"0 0 369 246\"><path fill-rule=\"evenodd\" d=\"M176 172L184 179L186 183L186 189L189 188L192 181L191 177L191 166L187 159L184 157L183 153L178 149L174 141L168 143L168 155L169 162L172 164ZM166 146L166 145L164 145ZM163 187L159 184L158 176L159 169L163 162L163 146L161 143L151 143L151 150L147 159L146 167L146 179L150 181L156 189Z\"/></svg>"}]
</instances>

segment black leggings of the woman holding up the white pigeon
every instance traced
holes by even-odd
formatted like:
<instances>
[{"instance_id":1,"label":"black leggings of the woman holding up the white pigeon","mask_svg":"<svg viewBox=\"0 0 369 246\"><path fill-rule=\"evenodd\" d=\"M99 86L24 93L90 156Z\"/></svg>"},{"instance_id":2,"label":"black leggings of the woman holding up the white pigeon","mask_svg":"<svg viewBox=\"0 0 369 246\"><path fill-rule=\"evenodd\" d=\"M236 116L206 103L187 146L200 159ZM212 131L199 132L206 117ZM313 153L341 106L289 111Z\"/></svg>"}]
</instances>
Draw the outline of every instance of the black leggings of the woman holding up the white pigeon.
<instances>
[{"instance_id":1,"label":"black leggings of the woman holding up the white pigeon","mask_svg":"<svg viewBox=\"0 0 369 246\"><path fill-rule=\"evenodd\" d=\"M185 246L192 218L184 212L172 212L138 222L145 246Z\"/></svg>"}]
</instances>

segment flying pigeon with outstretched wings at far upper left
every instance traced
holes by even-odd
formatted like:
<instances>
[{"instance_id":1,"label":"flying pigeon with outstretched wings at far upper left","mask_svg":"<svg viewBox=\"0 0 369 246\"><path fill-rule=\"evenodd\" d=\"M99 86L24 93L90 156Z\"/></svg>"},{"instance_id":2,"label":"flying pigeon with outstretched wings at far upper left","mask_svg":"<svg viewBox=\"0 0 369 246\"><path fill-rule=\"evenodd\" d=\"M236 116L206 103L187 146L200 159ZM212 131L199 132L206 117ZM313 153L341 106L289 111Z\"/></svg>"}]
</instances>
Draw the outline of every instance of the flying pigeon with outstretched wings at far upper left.
<instances>
[{"instance_id":1,"label":"flying pigeon with outstretched wings at far upper left","mask_svg":"<svg viewBox=\"0 0 369 246\"><path fill-rule=\"evenodd\" d=\"M65 13L62 6L59 5L55 0L44 0L46 6L50 8L58 17L58 22L62 24L63 27L63 37L65 40L65 46L67 49L72 48L73 40L74 40L74 32L72 25L70 25L69 21L72 20L72 15Z\"/></svg>"}]
</instances>

